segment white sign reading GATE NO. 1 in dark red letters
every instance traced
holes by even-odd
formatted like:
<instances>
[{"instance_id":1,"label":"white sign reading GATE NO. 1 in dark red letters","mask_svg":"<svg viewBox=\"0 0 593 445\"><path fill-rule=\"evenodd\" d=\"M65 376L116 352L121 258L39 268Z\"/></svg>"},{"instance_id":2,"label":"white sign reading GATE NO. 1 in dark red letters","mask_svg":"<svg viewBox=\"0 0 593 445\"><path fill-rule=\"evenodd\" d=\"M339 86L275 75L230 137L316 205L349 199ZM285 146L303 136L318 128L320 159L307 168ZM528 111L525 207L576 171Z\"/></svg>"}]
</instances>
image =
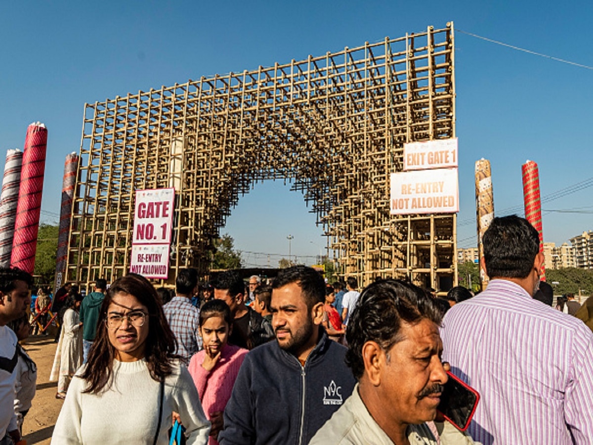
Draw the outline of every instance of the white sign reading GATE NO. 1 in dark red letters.
<instances>
[{"instance_id":1,"label":"white sign reading GATE NO. 1 in dark red letters","mask_svg":"<svg viewBox=\"0 0 593 445\"><path fill-rule=\"evenodd\" d=\"M132 244L170 244L175 189L136 190Z\"/></svg>"}]
</instances>

